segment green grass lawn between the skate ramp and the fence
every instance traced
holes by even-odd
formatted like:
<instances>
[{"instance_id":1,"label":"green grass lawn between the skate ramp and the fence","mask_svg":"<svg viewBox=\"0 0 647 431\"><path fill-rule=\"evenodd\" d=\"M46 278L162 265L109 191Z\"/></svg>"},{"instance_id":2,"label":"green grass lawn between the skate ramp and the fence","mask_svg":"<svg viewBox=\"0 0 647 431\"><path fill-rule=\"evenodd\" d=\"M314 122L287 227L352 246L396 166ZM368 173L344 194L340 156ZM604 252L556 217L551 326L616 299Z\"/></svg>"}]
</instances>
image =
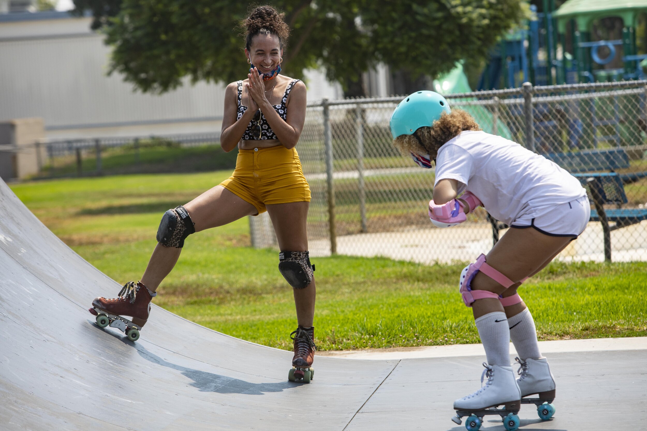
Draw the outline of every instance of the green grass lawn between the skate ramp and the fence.
<instances>
[{"instance_id":1,"label":"green grass lawn between the skate ramp and the fence","mask_svg":"<svg viewBox=\"0 0 647 431\"><path fill-rule=\"evenodd\" d=\"M123 284L146 267L162 213L229 175L140 174L12 189L63 241ZM247 219L192 235L155 303L214 330L290 348L294 303L278 273L278 253L249 244ZM313 262L321 350L479 342L471 310L457 292L463 264L345 256ZM646 262L554 263L527 281L521 296L540 339L644 336L646 284Z\"/></svg>"}]
</instances>

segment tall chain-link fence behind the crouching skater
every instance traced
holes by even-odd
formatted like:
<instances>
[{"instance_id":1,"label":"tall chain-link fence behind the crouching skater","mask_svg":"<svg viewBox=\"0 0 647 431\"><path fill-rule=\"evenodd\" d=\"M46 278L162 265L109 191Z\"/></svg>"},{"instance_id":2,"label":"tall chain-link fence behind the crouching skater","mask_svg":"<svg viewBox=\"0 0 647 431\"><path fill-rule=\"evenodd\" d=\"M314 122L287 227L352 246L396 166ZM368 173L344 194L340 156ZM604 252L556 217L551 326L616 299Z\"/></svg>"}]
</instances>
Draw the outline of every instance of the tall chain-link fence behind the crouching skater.
<instances>
[{"instance_id":1,"label":"tall chain-link fence behind the crouching skater","mask_svg":"<svg viewBox=\"0 0 647 431\"><path fill-rule=\"evenodd\" d=\"M627 261L647 260L646 94L647 81L620 81L526 83L446 98L484 131L542 154L587 187L591 221L560 258ZM451 229L429 222L434 171L419 169L391 145L389 118L400 100L324 100L307 108L297 149L313 196L311 255L472 261L507 228L482 207ZM271 224L257 219L252 244L272 246Z\"/></svg>"}]
</instances>

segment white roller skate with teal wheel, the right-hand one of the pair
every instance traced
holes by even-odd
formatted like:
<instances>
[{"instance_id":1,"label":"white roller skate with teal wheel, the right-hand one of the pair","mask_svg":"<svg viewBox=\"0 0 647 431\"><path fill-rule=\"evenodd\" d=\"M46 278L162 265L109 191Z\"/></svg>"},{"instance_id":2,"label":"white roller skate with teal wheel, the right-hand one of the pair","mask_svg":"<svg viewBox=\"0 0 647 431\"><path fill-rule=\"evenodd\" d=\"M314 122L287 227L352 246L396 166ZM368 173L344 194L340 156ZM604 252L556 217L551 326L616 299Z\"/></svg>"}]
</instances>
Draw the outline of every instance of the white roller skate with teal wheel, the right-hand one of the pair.
<instances>
[{"instance_id":1,"label":"white roller skate with teal wheel, the right-hand one of the pair","mask_svg":"<svg viewBox=\"0 0 647 431\"><path fill-rule=\"evenodd\" d=\"M537 415L543 421L551 419L555 414L553 400L555 399L555 379L548 360L514 358L519 363L519 379L517 384L521 390L521 404L534 404L537 406ZM537 395L536 398L525 398L528 395Z\"/></svg>"}]
</instances>

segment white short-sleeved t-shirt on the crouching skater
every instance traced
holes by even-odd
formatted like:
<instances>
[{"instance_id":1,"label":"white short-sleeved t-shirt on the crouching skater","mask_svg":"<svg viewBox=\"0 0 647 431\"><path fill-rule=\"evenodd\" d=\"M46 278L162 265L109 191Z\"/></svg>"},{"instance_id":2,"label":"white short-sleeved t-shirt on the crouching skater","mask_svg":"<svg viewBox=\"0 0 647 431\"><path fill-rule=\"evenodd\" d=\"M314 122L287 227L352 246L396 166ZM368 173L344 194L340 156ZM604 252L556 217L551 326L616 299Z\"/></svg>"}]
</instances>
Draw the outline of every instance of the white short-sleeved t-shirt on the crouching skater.
<instances>
[{"instance_id":1,"label":"white short-sleeved t-shirt on the crouching skater","mask_svg":"<svg viewBox=\"0 0 647 431\"><path fill-rule=\"evenodd\" d=\"M439 149L435 184L445 178L457 180L459 193L474 193L488 213L508 225L586 195L577 178L556 163L485 132L461 132Z\"/></svg>"}]
</instances>

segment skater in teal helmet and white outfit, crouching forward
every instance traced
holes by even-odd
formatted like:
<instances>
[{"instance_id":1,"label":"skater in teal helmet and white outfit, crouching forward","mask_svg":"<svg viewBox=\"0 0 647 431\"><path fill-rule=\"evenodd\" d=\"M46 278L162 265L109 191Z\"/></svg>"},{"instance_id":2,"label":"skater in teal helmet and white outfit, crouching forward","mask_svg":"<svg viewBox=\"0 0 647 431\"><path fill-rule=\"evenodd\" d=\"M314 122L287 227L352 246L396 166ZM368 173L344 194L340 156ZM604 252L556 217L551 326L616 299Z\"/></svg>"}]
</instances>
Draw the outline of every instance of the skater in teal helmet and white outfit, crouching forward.
<instances>
[{"instance_id":1,"label":"skater in teal helmet and white outfit, crouching forward","mask_svg":"<svg viewBox=\"0 0 647 431\"><path fill-rule=\"evenodd\" d=\"M500 414L506 429L516 430L522 403L540 405L540 417L548 419L554 413L550 403L555 382L517 289L584 231L591 209L586 190L543 156L481 131L470 114L450 110L443 96L432 91L402 100L390 127L393 145L402 154L411 154L426 168L435 162L428 211L435 226L457 226L483 205L494 218L516 228L461 272L459 291L472 308L487 355L488 379L454 402L453 420L461 423L461 417L474 414L468 425L476 426L483 415ZM519 354L520 379L510 366L510 339ZM489 409L500 405L505 408Z\"/></svg>"}]
</instances>

